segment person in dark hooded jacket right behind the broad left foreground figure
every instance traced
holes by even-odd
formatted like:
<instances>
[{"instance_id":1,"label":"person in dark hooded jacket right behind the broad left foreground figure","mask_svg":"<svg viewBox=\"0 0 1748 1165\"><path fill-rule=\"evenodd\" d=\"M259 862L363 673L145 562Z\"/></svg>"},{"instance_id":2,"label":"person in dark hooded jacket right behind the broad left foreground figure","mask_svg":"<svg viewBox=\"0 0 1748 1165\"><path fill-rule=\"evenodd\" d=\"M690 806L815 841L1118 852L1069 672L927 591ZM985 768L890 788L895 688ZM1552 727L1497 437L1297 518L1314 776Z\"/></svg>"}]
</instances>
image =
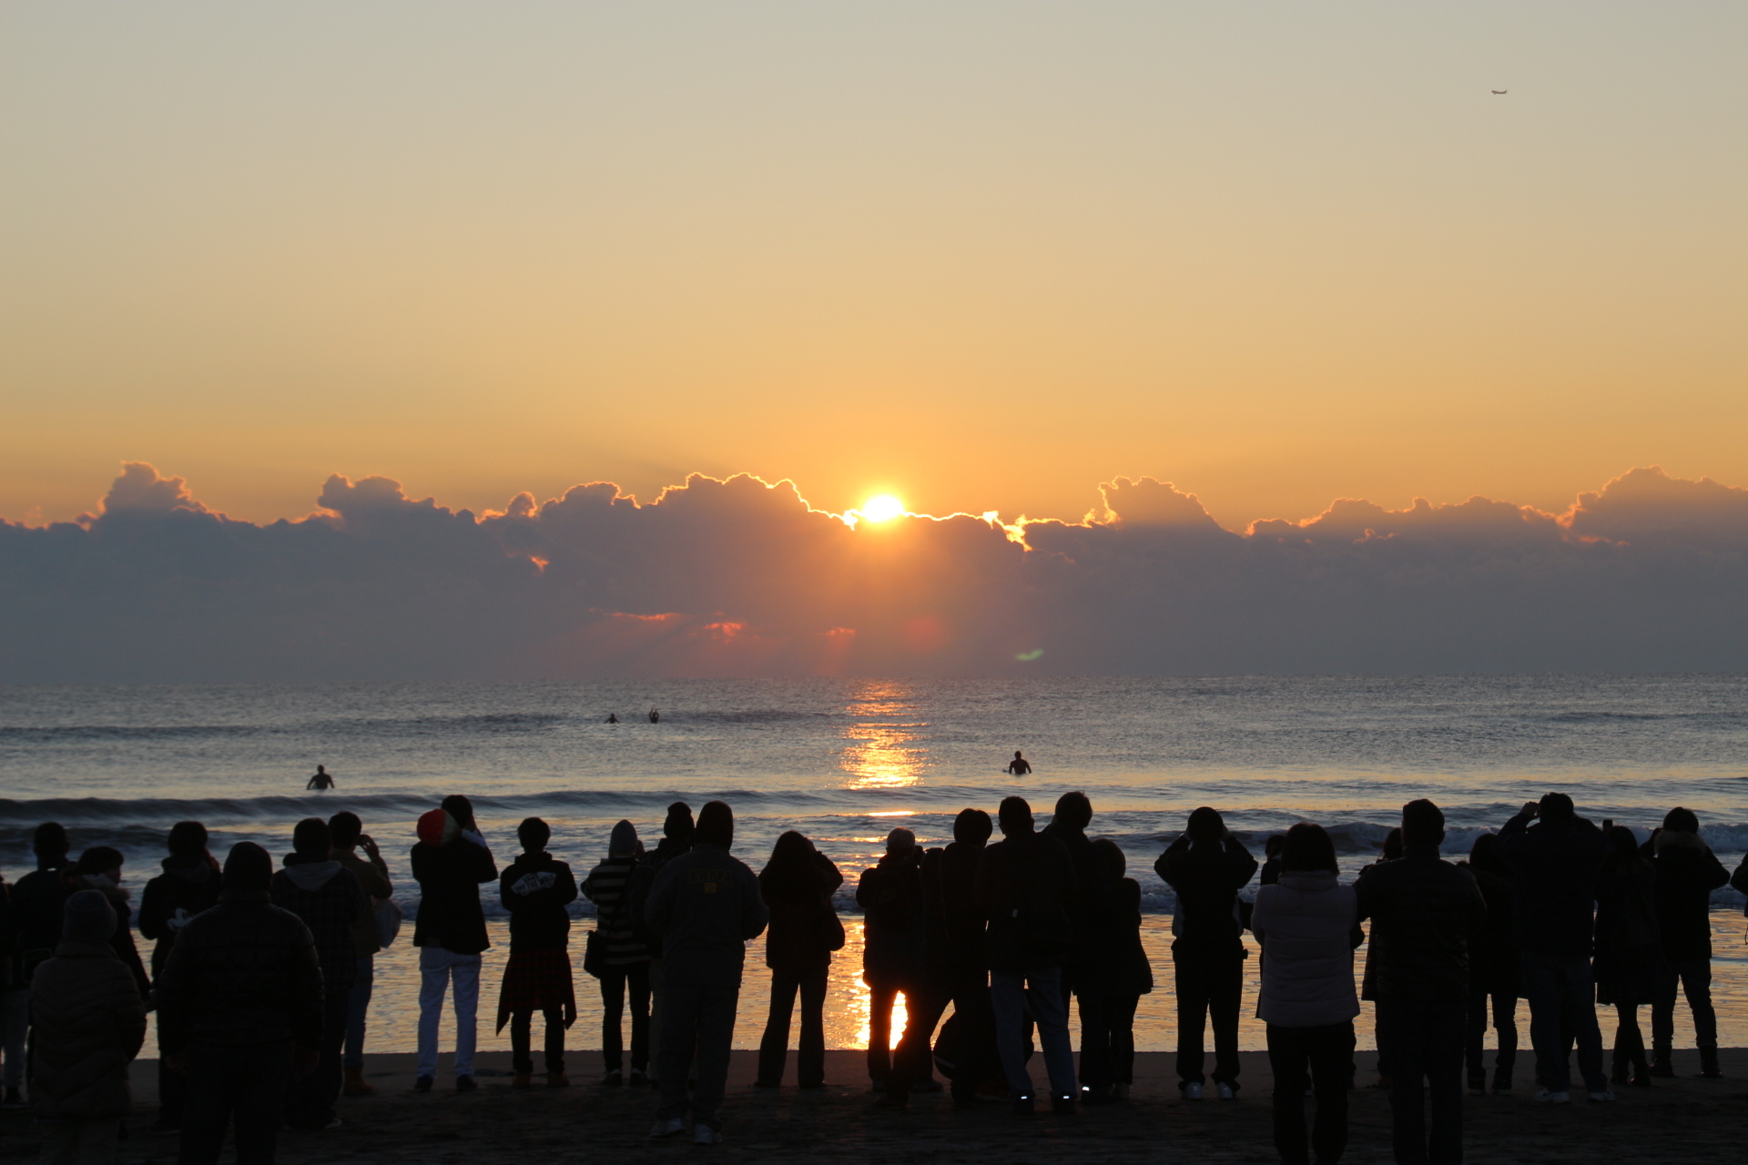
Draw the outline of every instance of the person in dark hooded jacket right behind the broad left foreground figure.
<instances>
[{"instance_id":1,"label":"person in dark hooded jacket right behind the broad left foreground figure","mask_svg":"<svg viewBox=\"0 0 1748 1165\"><path fill-rule=\"evenodd\" d=\"M329 851L332 833L322 817L304 817L292 830L292 851L285 868L273 875L273 905L290 910L316 940L322 964L322 1057L316 1071L292 1090L285 1120L294 1128L329 1128L337 1125L334 1102L341 1088L341 1046L346 1043L346 1003L358 975L353 924L371 910L364 887L351 870L341 866Z\"/></svg>"}]
</instances>

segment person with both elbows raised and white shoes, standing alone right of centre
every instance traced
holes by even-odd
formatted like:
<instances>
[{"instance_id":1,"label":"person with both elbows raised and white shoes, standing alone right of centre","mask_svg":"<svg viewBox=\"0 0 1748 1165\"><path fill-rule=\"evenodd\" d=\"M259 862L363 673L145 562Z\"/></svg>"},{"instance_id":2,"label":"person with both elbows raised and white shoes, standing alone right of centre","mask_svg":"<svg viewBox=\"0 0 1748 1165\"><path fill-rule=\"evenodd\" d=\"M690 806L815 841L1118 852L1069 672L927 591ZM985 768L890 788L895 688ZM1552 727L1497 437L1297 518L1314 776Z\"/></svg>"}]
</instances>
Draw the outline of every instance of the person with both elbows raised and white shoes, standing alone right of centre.
<instances>
[{"instance_id":1,"label":"person with both elbows raised and white shoes, standing alone right of centre","mask_svg":"<svg viewBox=\"0 0 1748 1165\"><path fill-rule=\"evenodd\" d=\"M1257 873L1257 859L1232 837L1218 812L1203 805L1189 828L1154 863L1178 894L1171 922L1171 961L1178 994L1178 1090L1203 1099L1203 1031L1213 1022L1213 1083L1222 1100L1238 1097L1238 1004L1245 994L1243 927L1238 891Z\"/></svg>"}]
</instances>

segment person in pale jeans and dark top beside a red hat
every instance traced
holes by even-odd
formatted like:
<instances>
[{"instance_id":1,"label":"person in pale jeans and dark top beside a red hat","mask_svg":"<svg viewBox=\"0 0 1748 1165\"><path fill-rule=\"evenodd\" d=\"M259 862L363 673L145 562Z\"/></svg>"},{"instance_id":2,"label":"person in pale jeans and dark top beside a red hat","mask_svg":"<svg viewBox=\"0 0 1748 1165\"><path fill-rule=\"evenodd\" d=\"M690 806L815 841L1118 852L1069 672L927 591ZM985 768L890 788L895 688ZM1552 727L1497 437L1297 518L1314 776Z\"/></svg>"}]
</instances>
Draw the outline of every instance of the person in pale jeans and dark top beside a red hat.
<instances>
[{"instance_id":1,"label":"person in pale jeans and dark top beside a red hat","mask_svg":"<svg viewBox=\"0 0 1748 1165\"><path fill-rule=\"evenodd\" d=\"M420 917L413 945L420 948L420 1067L414 1092L437 1083L437 1025L442 997L454 989L454 1090L474 1092L474 1041L479 1020L479 964L491 945L479 886L498 880L491 849L474 824L474 803L460 793L420 817L413 877L420 884Z\"/></svg>"}]
</instances>

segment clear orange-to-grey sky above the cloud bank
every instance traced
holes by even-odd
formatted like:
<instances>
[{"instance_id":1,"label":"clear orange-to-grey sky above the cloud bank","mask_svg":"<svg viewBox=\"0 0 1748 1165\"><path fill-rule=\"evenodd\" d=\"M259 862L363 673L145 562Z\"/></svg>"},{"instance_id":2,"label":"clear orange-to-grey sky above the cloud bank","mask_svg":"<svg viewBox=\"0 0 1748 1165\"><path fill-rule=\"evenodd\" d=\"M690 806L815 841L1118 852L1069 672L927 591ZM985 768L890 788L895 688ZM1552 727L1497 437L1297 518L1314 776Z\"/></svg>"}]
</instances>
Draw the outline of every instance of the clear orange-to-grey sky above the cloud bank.
<instances>
[{"instance_id":1,"label":"clear orange-to-grey sky above the cloud bank","mask_svg":"<svg viewBox=\"0 0 1748 1165\"><path fill-rule=\"evenodd\" d=\"M124 461L255 524L336 473L1065 522L1152 477L1234 536L1745 486L1745 49L1739 3L12 2L0 517Z\"/></svg>"}]
</instances>

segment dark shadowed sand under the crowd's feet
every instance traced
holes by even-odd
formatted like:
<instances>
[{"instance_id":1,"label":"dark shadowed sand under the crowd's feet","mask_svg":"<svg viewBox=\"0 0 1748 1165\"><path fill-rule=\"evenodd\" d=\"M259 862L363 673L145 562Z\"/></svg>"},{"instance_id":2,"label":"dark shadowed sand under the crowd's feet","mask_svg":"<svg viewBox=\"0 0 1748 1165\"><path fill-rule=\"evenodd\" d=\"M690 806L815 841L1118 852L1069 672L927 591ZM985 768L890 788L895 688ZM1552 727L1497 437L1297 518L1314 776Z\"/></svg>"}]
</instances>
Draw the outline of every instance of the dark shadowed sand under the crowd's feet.
<instances>
[{"instance_id":1,"label":"dark shadowed sand under the crowd's feet","mask_svg":"<svg viewBox=\"0 0 1748 1165\"><path fill-rule=\"evenodd\" d=\"M367 1078L378 1095L344 1099L344 1127L287 1134L280 1160L287 1165L327 1162L528 1165L552 1160L694 1160L804 1162L844 1158L860 1163L954 1160L965 1165L1000 1162L1276 1162L1269 1125L1269 1067L1262 1053L1245 1053L1243 1090L1236 1102L1178 1099L1173 1057L1136 1057L1134 1095L1124 1104L1077 1116L1016 1118L1005 1104L986 1102L954 1111L946 1093L919 1095L905 1113L872 1107L858 1051L827 1053L829 1086L801 1092L752 1088L753 1053L736 1051L724 1104L727 1142L699 1148L689 1139L647 1139L656 1114L649 1090L601 1088L598 1053L570 1057L577 1083L563 1090L509 1086L509 1055L482 1053L475 1064L481 1090L456 1095L447 1069L430 1095L413 1092L413 1057L367 1057ZM1360 1053L1360 1079L1372 1074L1372 1055ZM447 1064L447 1057L444 1060ZM1533 1100L1519 1062L1512 1097L1465 1097L1463 1123L1470 1162L1599 1162L1680 1160L1741 1162L1748 1149L1748 1051L1724 1053L1724 1079L1697 1079L1697 1053L1676 1051L1678 1079L1655 1088L1622 1088L1615 1104L1549 1107ZM156 1095L154 1060L135 1064L140 1116L122 1142L121 1162L168 1165L173 1135L145 1132ZM537 1078L538 1081L540 1078ZM790 1060L794 1079L794 1060ZM1582 1095L1582 1093L1580 1093ZM1351 1093L1346 1162L1384 1163L1390 1153L1390 1106L1372 1088ZM35 1156L35 1132L23 1113L0 1120L0 1160ZM229 1153L225 1155L229 1160Z\"/></svg>"}]
</instances>

